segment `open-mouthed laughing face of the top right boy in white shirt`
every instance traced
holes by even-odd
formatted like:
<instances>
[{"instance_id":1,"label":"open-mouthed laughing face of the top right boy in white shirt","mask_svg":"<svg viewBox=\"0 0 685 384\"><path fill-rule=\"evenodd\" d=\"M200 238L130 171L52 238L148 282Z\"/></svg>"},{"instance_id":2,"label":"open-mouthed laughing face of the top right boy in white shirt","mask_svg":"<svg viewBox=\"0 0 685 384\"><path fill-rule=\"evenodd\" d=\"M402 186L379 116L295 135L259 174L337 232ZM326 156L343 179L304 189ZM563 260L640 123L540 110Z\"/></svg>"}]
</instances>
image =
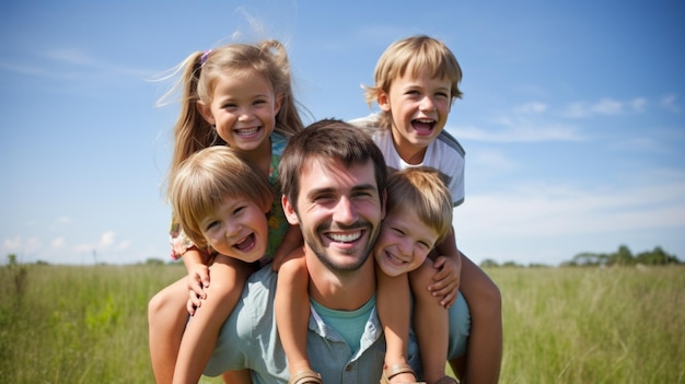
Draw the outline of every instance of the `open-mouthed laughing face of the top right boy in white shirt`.
<instances>
[{"instance_id":1,"label":"open-mouthed laughing face of the top right boy in white shirt","mask_svg":"<svg viewBox=\"0 0 685 384\"><path fill-rule=\"evenodd\" d=\"M391 114L397 152L409 164L420 164L423 153L448 123L451 107L450 80L431 78L422 71L414 78L407 70L395 79L390 92L379 95L381 110ZM416 159L415 156L419 156Z\"/></svg>"}]
</instances>

